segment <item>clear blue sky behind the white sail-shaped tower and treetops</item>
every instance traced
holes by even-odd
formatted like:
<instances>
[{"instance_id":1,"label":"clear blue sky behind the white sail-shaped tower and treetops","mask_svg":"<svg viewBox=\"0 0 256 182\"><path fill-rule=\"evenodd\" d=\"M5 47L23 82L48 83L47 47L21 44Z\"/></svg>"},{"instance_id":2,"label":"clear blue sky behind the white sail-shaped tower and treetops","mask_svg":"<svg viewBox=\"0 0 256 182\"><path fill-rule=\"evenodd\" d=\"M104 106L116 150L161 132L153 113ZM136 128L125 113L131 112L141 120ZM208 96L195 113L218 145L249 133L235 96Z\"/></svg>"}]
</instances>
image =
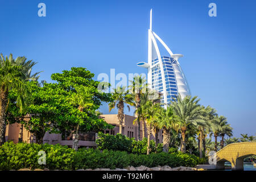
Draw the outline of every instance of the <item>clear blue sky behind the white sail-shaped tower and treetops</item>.
<instances>
[{"instance_id":1,"label":"clear blue sky behind the white sail-shaped tower and treetops","mask_svg":"<svg viewBox=\"0 0 256 182\"><path fill-rule=\"evenodd\" d=\"M46 17L38 16L40 2ZM211 2L217 17L208 15ZM146 72L136 63L147 60L152 8L152 30L184 55L180 64L192 95L225 115L234 136L256 133L256 1L1 0L0 7L0 52L38 62L34 71L43 71L47 82L71 67L86 67L96 78L111 68ZM101 111L108 114L108 107Z\"/></svg>"}]
</instances>

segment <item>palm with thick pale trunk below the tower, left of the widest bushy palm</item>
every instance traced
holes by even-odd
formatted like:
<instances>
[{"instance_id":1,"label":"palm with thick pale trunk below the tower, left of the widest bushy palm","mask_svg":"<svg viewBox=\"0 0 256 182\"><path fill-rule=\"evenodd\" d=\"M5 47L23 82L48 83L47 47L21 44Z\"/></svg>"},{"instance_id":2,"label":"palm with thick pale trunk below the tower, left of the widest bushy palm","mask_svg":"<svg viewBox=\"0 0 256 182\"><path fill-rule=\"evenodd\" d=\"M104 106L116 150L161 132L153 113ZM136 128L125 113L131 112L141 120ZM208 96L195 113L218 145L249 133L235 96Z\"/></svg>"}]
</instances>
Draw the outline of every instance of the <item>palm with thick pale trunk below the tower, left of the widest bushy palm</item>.
<instances>
[{"instance_id":1,"label":"palm with thick pale trunk below the tower, left of the widest bushy palm","mask_svg":"<svg viewBox=\"0 0 256 182\"><path fill-rule=\"evenodd\" d=\"M167 109L161 109L156 114L159 119L159 127L163 129L163 152L168 152L171 141L171 129L176 129L176 115L174 115L174 108L170 105Z\"/></svg>"}]
</instances>

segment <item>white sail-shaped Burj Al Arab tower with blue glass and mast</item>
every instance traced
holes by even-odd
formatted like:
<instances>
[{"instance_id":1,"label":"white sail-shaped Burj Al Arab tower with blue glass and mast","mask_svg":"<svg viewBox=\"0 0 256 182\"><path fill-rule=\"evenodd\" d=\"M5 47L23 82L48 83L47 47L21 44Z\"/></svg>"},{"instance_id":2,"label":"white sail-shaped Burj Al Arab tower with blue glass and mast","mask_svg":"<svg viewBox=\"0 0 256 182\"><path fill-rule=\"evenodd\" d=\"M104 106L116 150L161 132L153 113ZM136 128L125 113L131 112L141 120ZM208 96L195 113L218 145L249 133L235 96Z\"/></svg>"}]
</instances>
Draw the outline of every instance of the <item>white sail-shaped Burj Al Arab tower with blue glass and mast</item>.
<instances>
[{"instance_id":1,"label":"white sail-shaped Burj Al Arab tower with blue glass and mast","mask_svg":"<svg viewBox=\"0 0 256 182\"><path fill-rule=\"evenodd\" d=\"M162 44L168 55L160 54L158 44ZM191 95L185 75L180 67L178 59L181 54L172 53L166 43L152 31L152 9L150 11L150 29L148 30L148 61L137 63L139 67L147 68L147 82L151 89L163 94L161 103L164 107L175 101L180 94L181 98Z\"/></svg>"}]
</instances>

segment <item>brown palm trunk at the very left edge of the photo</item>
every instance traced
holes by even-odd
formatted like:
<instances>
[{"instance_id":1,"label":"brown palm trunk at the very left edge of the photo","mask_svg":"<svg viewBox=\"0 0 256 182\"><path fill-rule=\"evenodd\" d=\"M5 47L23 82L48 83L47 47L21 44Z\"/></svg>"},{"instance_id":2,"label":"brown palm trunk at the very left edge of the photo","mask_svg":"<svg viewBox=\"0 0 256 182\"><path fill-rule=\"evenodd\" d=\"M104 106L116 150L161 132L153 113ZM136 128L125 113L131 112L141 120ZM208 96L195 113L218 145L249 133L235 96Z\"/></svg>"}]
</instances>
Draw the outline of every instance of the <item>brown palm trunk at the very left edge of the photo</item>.
<instances>
[{"instance_id":1,"label":"brown palm trunk at the very left edge of the photo","mask_svg":"<svg viewBox=\"0 0 256 182\"><path fill-rule=\"evenodd\" d=\"M0 93L0 146L5 143L7 96L8 92L2 86Z\"/></svg>"}]
</instances>

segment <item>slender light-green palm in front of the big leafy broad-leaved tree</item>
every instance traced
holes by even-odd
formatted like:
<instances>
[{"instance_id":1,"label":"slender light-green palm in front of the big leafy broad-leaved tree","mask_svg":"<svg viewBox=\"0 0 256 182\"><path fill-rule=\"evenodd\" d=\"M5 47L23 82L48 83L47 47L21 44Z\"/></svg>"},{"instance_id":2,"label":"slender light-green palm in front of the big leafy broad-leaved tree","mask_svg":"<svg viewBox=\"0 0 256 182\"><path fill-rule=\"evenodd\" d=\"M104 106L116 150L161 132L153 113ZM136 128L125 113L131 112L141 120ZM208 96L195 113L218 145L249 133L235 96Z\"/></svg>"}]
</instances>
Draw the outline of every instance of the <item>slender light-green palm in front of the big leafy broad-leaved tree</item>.
<instances>
[{"instance_id":1,"label":"slender light-green palm in front of the big leafy broad-leaved tree","mask_svg":"<svg viewBox=\"0 0 256 182\"><path fill-rule=\"evenodd\" d=\"M90 89L86 86L80 85L75 86L76 94L69 98L69 102L73 105L77 105L78 109L82 112L88 106L93 106L93 93L90 92ZM75 127L75 138L73 140L72 148L77 151L79 144L79 126L80 122L77 123Z\"/></svg>"}]
</instances>

